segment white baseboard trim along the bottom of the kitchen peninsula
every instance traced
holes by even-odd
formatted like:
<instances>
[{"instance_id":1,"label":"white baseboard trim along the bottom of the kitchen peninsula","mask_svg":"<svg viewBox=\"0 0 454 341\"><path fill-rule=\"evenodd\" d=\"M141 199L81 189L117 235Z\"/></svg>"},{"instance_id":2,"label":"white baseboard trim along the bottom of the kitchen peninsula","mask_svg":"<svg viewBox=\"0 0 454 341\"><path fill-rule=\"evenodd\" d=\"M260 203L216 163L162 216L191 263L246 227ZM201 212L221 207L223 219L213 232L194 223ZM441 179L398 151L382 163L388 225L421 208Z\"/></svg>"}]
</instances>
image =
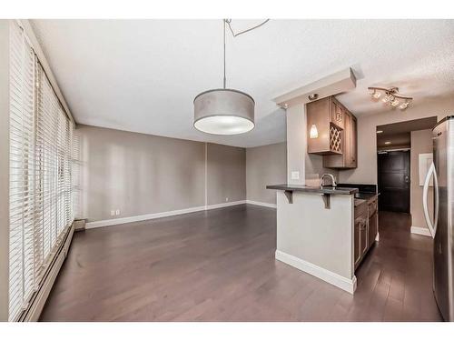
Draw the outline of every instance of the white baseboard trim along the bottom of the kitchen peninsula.
<instances>
[{"instance_id":1,"label":"white baseboard trim along the bottom of the kitchen peninsula","mask_svg":"<svg viewBox=\"0 0 454 341\"><path fill-rule=\"evenodd\" d=\"M301 271L307 272L312 276L316 276L333 286L340 287L342 290L345 290L350 294L353 294L356 290L356 276L354 275L353 278L350 279L279 250L276 250L275 256L277 260L288 264L289 266L296 267Z\"/></svg>"}]
</instances>

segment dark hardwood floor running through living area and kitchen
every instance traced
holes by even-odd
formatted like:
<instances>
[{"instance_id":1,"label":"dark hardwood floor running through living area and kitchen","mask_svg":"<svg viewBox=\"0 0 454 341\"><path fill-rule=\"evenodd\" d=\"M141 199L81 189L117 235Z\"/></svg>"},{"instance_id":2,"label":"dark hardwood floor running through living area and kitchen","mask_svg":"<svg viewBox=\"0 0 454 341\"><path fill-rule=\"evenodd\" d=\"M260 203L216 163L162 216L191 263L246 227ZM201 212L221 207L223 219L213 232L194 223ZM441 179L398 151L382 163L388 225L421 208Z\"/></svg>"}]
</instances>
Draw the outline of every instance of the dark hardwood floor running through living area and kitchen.
<instances>
[{"instance_id":1,"label":"dark hardwood floor running through living area and kitchen","mask_svg":"<svg viewBox=\"0 0 454 341\"><path fill-rule=\"evenodd\" d=\"M243 205L78 232L41 320L440 320L410 216L380 212L354 296L276 261L275 221Z\"/></svg>"}]
</instances>

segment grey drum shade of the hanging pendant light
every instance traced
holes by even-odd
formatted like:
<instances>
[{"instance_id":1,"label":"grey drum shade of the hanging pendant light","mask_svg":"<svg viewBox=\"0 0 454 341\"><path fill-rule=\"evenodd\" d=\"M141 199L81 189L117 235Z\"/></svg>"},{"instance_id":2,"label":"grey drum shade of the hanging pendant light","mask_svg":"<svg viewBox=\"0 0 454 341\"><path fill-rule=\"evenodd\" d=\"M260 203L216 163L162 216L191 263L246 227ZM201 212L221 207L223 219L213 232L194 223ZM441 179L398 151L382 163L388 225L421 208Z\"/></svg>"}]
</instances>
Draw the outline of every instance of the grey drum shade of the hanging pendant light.
<instances>
[{"instance_id":1,"label":"grey drum shade of the hanging pendant light","mask_svg":"<svg viewBox=\"0 0 454 341\"><path fill-rule=\"evenodd\" d=\"M194 126L215 135L247 133L254 127L252 96L233 89L214 89L194 99Z\"/></svg>"}]
</instances>

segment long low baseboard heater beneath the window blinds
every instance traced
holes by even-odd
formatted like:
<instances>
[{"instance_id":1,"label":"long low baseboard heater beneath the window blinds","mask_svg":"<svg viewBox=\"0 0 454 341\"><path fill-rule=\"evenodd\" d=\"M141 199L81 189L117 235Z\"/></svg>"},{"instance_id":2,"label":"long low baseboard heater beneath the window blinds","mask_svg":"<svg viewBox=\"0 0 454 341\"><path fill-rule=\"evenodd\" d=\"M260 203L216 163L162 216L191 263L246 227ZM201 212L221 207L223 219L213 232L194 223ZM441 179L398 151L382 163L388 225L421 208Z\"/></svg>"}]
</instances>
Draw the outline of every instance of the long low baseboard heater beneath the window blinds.
<instances>
[{"instance_id":1,"label":"long low baseboard heater beneath the window blinds","mask_svg":"<svg viewBox=\"0 0 454 341\"><path fill-rule=\"evenodd\" d=\"M60 268L64 263L64 259L68 255L69 247L73 240L74 235L74 223L69 227L68 231L64 236L62 245L57 249L54 255L54 259L51 262L51 265L48 267L47 271L44 274L44 279L39 286L38 290L35 292L35 295L32 297L28 308L24 313L19 317L18 321L20 322L36 322L43 311L45 301L49 296L52 286Z\"/></svg>"}]
</instances>

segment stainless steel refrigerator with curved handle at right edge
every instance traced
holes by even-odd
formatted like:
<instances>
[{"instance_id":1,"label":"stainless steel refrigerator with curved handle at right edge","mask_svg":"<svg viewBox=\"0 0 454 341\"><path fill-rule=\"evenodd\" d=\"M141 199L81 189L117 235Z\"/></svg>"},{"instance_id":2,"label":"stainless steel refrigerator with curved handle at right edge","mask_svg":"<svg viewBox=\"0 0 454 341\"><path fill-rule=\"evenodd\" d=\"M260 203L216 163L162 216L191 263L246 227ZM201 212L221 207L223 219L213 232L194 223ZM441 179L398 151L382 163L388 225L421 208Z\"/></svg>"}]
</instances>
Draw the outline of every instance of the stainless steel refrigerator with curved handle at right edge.
<instances>
[{"instance_id":1,"label":"stainless steel refrigerator with curved handle at right edge","mask_svg":"<svg viewBox=\"0 0 454 341\"><path fill-rule=\"evenodd\" d=\"M443 318L454 321L454 115L441 120L432 133L433 163L424 183L422 204L434 238L433 292ZM429 216L428 207L431 188L433 218Z\"/></svg>"}]
</instances>

